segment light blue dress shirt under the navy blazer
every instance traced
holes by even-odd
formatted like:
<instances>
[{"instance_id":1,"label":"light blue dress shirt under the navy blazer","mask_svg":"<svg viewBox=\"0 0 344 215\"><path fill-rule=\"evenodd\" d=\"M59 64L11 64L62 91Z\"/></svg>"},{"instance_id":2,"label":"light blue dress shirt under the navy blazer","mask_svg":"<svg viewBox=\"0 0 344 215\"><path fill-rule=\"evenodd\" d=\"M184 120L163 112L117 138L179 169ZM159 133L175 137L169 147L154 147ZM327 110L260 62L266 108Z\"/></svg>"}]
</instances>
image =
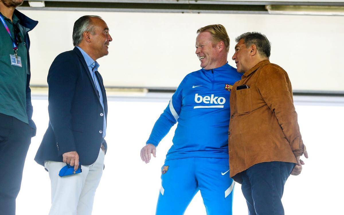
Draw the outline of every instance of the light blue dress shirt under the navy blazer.
<instances>
[{"instance_id":1,"label":"light blue dress shirt under the navy blazer","mask_svg":"<svg viewBox=\"0 0 344 215\"><path fill-rule=\"evenodd\" d=\"M100 89L100 85L97 79L97 76L95 74L95 72L98 70L99 64L97 63L97 61L94 61L84 50L82 50L79 46L76 46L81 54L83 54L84 59L86 61L86 64L88 66L89 72L91 73L91 76L93 78L93 82L96 85L96 88L98 90L98 94L99 94L99 101L101 104L101 107L103 107L103 113L104 113L104 128L103 128L103 138L106 135L106 118L105 118L105 111L104 111L104 103L103 103L103 94L101 93L101 89Z\"/></svg>"}]
</instances>

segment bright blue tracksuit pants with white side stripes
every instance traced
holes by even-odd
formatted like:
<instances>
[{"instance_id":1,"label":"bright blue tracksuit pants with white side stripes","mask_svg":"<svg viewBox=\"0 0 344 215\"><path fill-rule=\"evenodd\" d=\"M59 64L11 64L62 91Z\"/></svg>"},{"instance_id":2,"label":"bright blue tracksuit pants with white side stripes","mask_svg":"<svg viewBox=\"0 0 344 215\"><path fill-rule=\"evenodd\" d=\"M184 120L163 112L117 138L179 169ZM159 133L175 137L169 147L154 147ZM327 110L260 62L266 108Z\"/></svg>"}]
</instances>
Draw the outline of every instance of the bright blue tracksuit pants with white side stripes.
<instances>
[{"instance_id":1,"label":"bright blue tracksuit pants with white side stripes","mask_svg":"<svg viewBox=\"0 0 344 215\"><path fill-rule=\"evenodd\" d=\"M183 158L165 161L156 215L182 215L201 191L207 215L232 215L234 181L228 159Z\"/></svg>"}]
</instances>

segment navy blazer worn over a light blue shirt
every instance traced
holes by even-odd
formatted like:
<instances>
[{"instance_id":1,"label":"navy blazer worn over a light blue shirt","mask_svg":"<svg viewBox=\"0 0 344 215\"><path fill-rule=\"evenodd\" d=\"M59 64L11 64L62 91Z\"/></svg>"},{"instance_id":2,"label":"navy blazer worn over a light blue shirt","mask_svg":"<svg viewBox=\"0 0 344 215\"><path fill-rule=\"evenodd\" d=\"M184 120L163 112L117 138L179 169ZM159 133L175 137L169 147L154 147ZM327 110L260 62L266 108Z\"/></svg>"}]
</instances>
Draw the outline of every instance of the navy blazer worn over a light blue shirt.
<instances>
[{"instance_id":1,"label":"navy blazer worn over a light blue shirt","mask_svg":"<svg viewBox=\"0 0 344 215\"><path fill-rule=\"evenodd\" d=\"M94 163L103 139L107 99L103 78L96 72L103 93L104 111L84 56L74 47L59 54L49 69L49 126L35 161L63 162L62 154L76 151L82 165Z\"/></svg>"}]
</instances>

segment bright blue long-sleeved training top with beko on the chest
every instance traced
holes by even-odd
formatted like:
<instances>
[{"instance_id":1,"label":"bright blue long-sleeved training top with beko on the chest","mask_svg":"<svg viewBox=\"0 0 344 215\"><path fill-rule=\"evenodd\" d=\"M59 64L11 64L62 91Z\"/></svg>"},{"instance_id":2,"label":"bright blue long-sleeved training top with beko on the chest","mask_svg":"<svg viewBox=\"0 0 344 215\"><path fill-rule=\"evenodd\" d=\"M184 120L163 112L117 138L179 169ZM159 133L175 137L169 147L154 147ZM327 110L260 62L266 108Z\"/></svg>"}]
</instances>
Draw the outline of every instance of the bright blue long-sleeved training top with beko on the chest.
<instances>
[{"instance_id":1,"label":"bright blue long-sleeved training top with beko on the chest","mask_svg":"<svg viewBox=\"0 0 344 215\"><path fill-rule=\"evenodd\" d=\"M229 96L239 79L241 74L228 63L186 75L155 122L147 144L158 146L178 122L166 160L228 158Z\"/></svg>"}]
</instances>

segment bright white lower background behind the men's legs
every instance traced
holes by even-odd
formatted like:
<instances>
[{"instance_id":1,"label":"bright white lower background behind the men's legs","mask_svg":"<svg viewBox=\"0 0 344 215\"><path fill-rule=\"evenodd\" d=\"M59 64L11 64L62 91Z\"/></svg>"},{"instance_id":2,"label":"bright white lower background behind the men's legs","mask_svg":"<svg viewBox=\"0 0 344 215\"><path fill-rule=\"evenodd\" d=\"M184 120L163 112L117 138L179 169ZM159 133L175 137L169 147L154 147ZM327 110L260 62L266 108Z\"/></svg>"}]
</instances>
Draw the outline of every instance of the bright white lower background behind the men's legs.
<instances>
[{"instance_id":1,"label":"bright white lower background behind the men's legs","mask_svg":"<svg viewBox=\"0 0 344 215\"><path fill-rule=\"evenodd\" d=\"M298 100L298 99L295 99ZM155 120L166 107L163 102L109 101L108 152L98 187L93 214L153 215L159 194L161 166L171 146L174 128L158 146L149 164L140 159ZM50 180L34 155L48 125L47 100L33 100L37 135L26 158L17 215L48 214ZM286 214L340 214L342 211L342 123L344 106L296 106L302 138L309 159L303 172L290 176L282 198ZM240 185L235 185L234 214L247 214ZM205 215L199 193L185 215Z\"/></svg>"}]
</instances>

